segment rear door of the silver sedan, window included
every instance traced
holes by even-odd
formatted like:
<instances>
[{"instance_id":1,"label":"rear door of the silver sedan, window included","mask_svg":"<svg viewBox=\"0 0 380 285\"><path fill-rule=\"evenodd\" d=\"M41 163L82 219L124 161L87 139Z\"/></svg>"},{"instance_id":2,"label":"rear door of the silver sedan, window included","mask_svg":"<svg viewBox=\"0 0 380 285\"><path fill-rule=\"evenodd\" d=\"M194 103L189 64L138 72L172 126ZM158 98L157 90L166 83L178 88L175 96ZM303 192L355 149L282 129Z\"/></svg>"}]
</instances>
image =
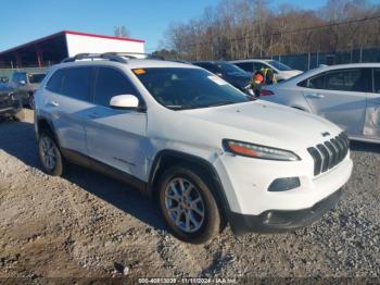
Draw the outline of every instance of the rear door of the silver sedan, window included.
<instances>
[{"instance_id":1,"label":"rear door of the silver sedan, window included","mask_svg":"<svg viewBox=\"0 0 380 285\"><path fill-rule=\"evenodd\" d=\"M370 69L328 71L307 80L304 96L314 113L363 136L370 78Z\"/></svg>"}]
</instances>

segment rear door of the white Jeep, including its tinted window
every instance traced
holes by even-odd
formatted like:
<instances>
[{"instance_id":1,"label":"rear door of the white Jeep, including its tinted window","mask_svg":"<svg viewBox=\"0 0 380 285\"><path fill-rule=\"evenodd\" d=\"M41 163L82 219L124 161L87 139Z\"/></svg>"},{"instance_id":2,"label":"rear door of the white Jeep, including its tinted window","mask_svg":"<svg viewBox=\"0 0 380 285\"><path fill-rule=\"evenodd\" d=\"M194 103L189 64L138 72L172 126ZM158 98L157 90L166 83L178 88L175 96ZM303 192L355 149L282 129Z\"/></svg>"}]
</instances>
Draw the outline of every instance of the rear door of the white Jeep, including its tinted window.
<instances>
[{"instance_id":1,"label":"rear door of the white Jeep, including its tinted window","mask_svg":"<svg viewBox=\"0 0 380 285\"><path fill-rule=\"evenodd\" d=\"M85 126L89 112L92 67L67 67L49 79L45 108L54 125L61 147L87 154Z\"/></svg>"}]
</instances>

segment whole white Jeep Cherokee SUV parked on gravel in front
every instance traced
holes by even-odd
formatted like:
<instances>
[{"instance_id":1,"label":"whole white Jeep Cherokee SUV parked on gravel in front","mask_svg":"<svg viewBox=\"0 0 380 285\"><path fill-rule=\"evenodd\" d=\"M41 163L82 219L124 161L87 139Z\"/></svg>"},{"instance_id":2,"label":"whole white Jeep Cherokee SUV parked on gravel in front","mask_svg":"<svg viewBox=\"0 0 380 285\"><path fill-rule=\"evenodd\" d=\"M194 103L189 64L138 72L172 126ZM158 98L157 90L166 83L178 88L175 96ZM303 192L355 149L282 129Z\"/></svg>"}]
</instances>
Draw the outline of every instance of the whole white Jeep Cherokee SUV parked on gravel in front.
<instances>
[{"instance_id":1,"label":"whole white Jeep Cherokee SUV parked on gravel in front","mask_svg":"<svg viewBox=\"0 0 380 285\"><path fill-rule=\"evenodd\" d=\"M71 161L126 181L190 243L227 222L236 234L309 224L353 169L347 137L324 119L252 100L194 65L121 54L53 66L35 128L47 173Z\"/></svg>"}]
</instances>

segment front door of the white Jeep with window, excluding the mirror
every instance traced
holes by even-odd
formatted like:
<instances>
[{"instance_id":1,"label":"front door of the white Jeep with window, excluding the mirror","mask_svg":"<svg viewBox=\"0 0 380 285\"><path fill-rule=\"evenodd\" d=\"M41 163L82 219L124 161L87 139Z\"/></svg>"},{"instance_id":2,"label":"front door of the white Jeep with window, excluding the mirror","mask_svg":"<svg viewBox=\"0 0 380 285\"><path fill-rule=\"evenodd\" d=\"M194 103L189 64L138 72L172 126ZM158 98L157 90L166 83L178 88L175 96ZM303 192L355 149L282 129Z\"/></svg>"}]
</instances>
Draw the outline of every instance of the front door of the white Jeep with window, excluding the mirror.
<instances>
[{"instance_id":1,"label":"front door of the white Jeep with window, excluding the mirror","mask_svg":"<svg viewBox=\"0 0 380 285\"><path fill-rule=\"evenodd\" d=\"M143 179L147 113L111 108L111 98L118 95L135 95L142 102L139 92L122 71L98 67L94 107L86 129L89 154L97 161Z\"/></svg>"}]
</instances>

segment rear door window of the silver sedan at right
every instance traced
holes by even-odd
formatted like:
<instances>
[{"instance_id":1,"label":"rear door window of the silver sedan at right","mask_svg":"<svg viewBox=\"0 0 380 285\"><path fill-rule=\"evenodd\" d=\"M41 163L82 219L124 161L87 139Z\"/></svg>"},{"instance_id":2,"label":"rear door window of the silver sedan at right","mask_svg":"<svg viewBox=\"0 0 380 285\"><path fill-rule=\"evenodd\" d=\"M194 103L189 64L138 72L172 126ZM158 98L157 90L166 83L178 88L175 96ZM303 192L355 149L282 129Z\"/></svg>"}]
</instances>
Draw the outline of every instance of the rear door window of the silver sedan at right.
<instances>
[{"instance_id":1,"label":"rear door window of the silver sedan at right","mask_svg":"<svg viewBox=\"0 0 380 285\"><path fill-rule=\"evenodd\" d=\"M364 69L331 71L326 74L325 89L366 92L369 79Z\"/></svg>"}]
</instances>

